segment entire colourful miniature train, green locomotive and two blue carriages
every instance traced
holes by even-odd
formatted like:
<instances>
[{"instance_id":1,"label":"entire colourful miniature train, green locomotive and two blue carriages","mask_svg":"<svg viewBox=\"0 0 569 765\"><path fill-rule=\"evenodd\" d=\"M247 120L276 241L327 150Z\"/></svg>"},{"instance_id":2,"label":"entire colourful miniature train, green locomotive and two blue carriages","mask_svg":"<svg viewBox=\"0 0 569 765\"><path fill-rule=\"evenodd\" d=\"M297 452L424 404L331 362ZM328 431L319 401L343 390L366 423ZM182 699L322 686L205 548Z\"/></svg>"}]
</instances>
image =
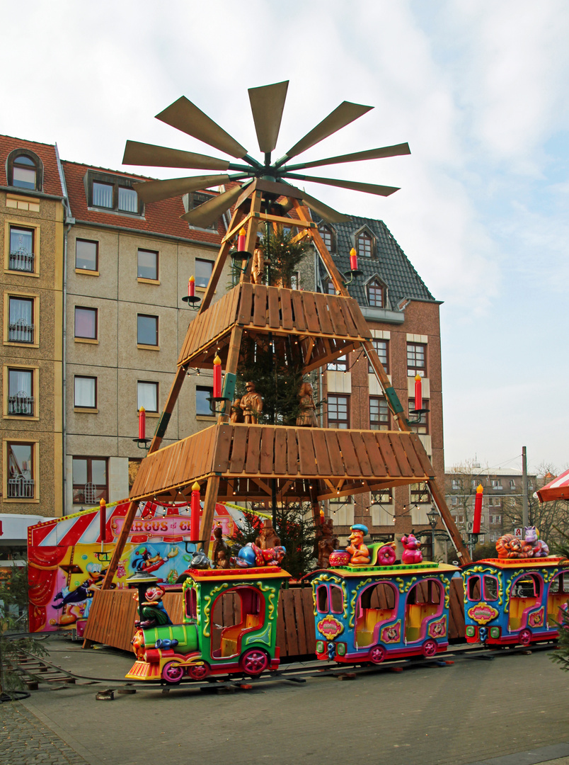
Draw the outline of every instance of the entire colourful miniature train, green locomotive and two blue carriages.
<instances>
[{"instance_id":1,"label":"entire colourful miniature train, green locomotive and two blue carriages","mask_svg":"<svg viewBox=\"0 0 569 765\"><path fill-rule=\"evenodd\" d=\"M313 591L317 659L377 665L446 651L450 584L460 574L468 643L528 646L558 637L561 610L569 601L569 560L549 556L543 543L526 542L524 552L501 538L499 558L460 571L423 561L413 534L403 537L405 550L396 561L395 542L366 545L366 526L355 524L351 531L346 549L330 553L330 568L303 578ZM531 557L535 552L538 557ZM515 557L518 553L525 557ZM177 684L277 669L278 595L290 578L280 567L284 555L283 548L249 544L231 558L236 568L211 568L198 552L179 579L180 624L171 623L161 603L164 588L153 575L132 577L140 621L132 640L136 661L126 677ZM217 623L229 611L226 626Z\"/></svg>"}]
</instances>

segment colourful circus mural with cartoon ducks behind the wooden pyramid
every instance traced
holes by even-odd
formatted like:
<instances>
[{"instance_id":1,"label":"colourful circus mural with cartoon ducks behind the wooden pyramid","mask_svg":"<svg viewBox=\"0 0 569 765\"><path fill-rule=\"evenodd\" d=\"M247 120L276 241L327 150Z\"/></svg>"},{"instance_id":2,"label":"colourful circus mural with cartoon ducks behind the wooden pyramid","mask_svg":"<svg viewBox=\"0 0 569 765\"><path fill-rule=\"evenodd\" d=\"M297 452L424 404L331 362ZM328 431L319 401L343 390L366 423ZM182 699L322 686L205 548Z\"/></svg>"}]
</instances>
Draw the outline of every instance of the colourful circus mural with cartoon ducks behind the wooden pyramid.
<instances>
[{"instance_id":1,"label":"colourful circus mural with cartoon ducks behind the wooden pyramid","mask_svg":"<svg viewBox=\"0 0 569 765\"><path fill-rule=\"evenodd\" d=\"M84 510L28 529L30 631L85 628L93 593L101 587L128 503L106 511L104 539L99 509ZM232 536L242 519L237 506L216 505L216 522ZM152 572L162 587L188 568L195 546L190 539L190 507L140 504L112 588L125 588L136 571Z\"/></svg>"}]
</instances>

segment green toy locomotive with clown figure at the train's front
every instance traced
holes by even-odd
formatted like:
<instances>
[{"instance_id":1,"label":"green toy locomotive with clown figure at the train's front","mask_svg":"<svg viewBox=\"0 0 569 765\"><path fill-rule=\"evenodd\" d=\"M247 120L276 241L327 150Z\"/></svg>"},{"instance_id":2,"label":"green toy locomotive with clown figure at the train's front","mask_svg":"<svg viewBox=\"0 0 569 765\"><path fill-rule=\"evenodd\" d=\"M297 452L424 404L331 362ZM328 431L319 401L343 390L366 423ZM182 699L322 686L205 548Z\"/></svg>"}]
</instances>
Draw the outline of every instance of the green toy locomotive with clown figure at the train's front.
<instances>
[{"instance_id":1,"label":"green toy locomotive with clown figure at the train's front","mask_svg":"<svg viewBox=\"0 0 569 765\"><path fill-rule=\"evenodd\" d=\"M177 684L184 678L256 676L277 669L278 594L290 574L268 565L190 569L186 575L181 624L167 617L161 595L154 592L161 588L138 584L143 607L132 639L136 661L125 676Z\"/></svg>"}]
</instances>

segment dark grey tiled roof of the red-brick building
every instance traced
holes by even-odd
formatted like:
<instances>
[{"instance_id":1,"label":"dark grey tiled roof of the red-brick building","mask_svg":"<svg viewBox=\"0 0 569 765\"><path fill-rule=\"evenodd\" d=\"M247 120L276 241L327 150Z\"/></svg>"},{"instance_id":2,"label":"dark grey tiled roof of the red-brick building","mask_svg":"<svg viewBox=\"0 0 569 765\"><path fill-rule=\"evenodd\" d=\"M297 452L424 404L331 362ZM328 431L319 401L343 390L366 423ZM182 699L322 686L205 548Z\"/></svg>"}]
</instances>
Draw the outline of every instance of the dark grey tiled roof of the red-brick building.
<instances>
[{"instance_id":1,"label":"dark grey tiled roof of the red-brick building","mask_svg":"<svg viewBox=\"0 0 569 765\"><path fill-rule=\"evenodd\" d=\"M366 229L375 239L374 257L358 257L358 268L363 271L355 285L349 285L348 291L360 305L367 305L366 283L374 275L378 275L387 285L389 305L386 308L396 309L402 298L434 301L433 295L415 271L405 252L395 241L391 231L382 220L350 216L347 223L327 224L336 235L336 253L332 253L340 273L350 270L350 249L355 244L356 233ZM320 265L323 278L326 269Z\"/></svg>"}]
</instances>

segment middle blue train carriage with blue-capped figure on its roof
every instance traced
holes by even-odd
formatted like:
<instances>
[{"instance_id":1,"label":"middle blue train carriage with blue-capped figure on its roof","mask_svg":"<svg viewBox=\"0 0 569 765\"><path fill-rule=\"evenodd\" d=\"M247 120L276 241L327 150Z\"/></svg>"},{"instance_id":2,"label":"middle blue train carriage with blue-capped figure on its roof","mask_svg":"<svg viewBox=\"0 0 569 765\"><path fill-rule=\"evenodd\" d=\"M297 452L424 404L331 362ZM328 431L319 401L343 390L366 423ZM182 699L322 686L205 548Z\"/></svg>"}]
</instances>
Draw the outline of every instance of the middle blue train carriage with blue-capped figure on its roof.
<instances>
[{"instance_id":1,"label":"middle blue train carriage with blue-capped figure on its roof","mask_svg":"<svg viewBox=\"0 0 569 765\"><path fill-rule=\"evenodd\" d=\"M358 528L365 526L352 527ZM459 569L423 562L412 539L414 562L396 564L395 545L389 554L389 545L366 547L360 539L356 548L331 553L330 568L305 577L313 591L318 659L380 664L447 649L450 581ZM359 555L362 547L369 555Z\"/></svg>"}]
</instances>

